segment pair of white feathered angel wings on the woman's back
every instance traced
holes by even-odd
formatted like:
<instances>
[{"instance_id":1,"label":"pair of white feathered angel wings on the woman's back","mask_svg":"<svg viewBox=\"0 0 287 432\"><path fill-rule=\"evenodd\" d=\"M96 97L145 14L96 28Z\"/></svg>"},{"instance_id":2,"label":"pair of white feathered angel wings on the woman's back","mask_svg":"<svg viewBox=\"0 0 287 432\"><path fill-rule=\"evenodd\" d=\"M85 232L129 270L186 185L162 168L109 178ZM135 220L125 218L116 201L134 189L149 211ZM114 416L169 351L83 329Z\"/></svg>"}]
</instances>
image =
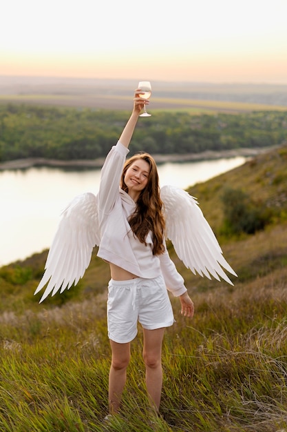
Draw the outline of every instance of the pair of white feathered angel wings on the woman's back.
<instances>
[{"instance_id":1,"label":"pair of white feathered angel wings on the woman's back","mask_svg":"<svg viewBox=\"0 0 287 432\"><path fill-rule=\"evenodd\" d=\"M164 202L166 237L187 268L202 277L233 285L222 270L232 275L235 271L226 262L217 239L204 218L195 198L174 186L163 186L160 196ZM94 246L100 244L97 198L84 193L74 198L63 210L61 222L47 255L45 272L34 294L47 284L40 303L52 293L61 293L77 284L89 266Z\"/></svg>"}]
</instances>

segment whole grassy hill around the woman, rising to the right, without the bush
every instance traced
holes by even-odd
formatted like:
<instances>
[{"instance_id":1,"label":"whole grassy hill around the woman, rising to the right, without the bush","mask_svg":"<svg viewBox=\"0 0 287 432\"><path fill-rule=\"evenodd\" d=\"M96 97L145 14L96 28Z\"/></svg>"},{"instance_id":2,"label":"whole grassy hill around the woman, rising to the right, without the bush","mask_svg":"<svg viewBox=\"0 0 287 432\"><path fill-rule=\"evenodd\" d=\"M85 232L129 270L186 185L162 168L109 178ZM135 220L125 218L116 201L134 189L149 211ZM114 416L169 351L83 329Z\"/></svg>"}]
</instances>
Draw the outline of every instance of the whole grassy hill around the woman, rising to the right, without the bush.
<instances>
[{"instance_id":1,"label":"whole grassy hill around the woman, rising to the right, without the bush","mask_svg":"<svg viewBox=\"0 0 287 432\"><path fill-rule=\"evenodd\" d=\"M226 236L226 187L268 210L264 230ZM141 331L123 412L110 431L287 430L287 146L189 189L238 274L234 286L184 268L193 320L179 313L163 347L161 418L145 400ZM228 204L228 203L227 203ZM76 288L39 305L47 251L0 268L1 431L103 431L109 342L107 264L96 258Z\"/></svg>"}]
</instances>

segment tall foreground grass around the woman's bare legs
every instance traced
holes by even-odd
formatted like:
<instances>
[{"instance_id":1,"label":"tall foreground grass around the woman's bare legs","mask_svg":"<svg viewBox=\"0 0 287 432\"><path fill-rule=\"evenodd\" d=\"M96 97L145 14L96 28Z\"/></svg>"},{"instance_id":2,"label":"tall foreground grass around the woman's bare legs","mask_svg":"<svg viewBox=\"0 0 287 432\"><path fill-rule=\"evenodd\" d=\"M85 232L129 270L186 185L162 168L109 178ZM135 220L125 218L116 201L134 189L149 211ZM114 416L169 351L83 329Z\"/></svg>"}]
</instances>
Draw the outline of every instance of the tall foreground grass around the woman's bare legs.
<instances>
[{"instance_id":1,"label":"tall foreground grass around the woman's bare legs","mask_svg":"<svg viewBox=\"0 0 287 432\"><path fill-rule=\"evenodd\" d=\"M105 295L61 308L1 315L1 431L268 431L287 428L287 269L194 293L187 321L163 346L160 418L149 411L142 335L120 415L107 413L110 348ZM196 291L196 290L195 290ZM150 420L153 420L151 423Z\"/></svg>"}]
</instances>

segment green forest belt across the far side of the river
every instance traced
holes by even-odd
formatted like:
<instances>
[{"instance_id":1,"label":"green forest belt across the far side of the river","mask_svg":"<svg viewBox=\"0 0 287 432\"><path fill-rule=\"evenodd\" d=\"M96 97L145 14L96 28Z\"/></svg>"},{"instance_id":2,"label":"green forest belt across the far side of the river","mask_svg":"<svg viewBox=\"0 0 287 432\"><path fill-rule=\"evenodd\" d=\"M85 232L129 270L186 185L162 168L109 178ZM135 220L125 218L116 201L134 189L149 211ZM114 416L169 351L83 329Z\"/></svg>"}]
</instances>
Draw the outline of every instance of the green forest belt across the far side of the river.
<instances>
[{"instance_id":1,"label":"green forest belt across the far side of the river","mask_svg":"<svg viewBox=\"0 0 287 432\"><path fill-rule=\"evenodd\" d=\"M107 155L129 117L125 110L0 105L0 162L45 159L96 159ZM195 115L156 111L140 119L134 152L163 155L205 150L260 148L287 139L287 111Z\"/></svg>"}]
</instances>

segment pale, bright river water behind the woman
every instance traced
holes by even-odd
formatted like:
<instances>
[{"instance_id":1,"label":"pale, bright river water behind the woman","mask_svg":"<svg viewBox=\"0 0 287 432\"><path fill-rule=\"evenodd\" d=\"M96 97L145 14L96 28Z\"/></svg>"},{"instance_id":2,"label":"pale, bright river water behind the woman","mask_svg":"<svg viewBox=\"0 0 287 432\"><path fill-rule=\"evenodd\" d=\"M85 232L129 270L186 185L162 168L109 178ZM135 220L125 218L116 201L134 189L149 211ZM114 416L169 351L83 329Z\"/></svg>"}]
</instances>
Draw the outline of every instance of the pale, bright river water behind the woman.
<instances>
[{"instance_id":1,"label":"pale, bright river water behind the woman","mask_svg":"<svg viewBox=\"0 0 287 432\"><path fill-rule=\"evenodd\" d=\"M187 188L244 163L233 157L213 161L162 164L160 184ZM0 172L0 266L49 248L59 215L78 194L96 193L100 170L30 168Z\"/></svg>"}]
</instances>

